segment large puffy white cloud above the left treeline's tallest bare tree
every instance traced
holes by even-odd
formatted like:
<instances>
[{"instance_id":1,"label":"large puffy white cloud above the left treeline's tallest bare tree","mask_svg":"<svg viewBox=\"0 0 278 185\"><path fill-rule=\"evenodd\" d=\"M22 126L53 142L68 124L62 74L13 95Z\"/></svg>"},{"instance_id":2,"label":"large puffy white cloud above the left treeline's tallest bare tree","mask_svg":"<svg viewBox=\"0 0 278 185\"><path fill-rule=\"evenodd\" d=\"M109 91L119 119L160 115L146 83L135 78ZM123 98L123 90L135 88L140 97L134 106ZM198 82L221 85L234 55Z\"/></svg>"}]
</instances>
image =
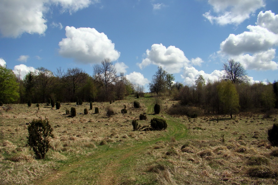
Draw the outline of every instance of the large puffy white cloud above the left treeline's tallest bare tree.
<instances>
[{"instance_id":1,"label":"large puffy white cloud above the left treeline's tallest bare tree","mask_svg":"<svg viewBox=\"0 0 278 185\"><path fill-rule=\"evenodd\" d=\"M115 50L115 44L104 33L99 33L95 28L65 28L66 37L59 42L60 55L74 58L83 64L96 64L105 58L112 61L120 57L120 52Z\"/></svg>"}]
</instances>

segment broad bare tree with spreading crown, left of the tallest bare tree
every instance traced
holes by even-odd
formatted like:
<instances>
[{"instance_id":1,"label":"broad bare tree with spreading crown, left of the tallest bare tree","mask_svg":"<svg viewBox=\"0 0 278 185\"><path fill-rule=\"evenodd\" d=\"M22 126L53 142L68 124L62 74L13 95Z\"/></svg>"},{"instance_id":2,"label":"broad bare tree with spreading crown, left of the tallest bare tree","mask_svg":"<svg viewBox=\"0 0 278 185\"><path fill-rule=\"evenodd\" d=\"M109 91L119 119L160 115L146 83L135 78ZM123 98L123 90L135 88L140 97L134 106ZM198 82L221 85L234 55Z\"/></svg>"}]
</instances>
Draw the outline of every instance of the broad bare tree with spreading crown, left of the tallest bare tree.
<instances>
[{"instance_id":1,"label":"broad bare tree with spreading crown, left of the tallest bare tree","mask_svg":"<svg viewBox=\"0 0 278 185\"><path fill-rule=\"evenodd\" d=\"M65 88L70 92L71 98L74 98L76 91L85 85L86 78L88 77L88 74L86 74L84 70L77 67L73 69L68 68L67 72L62 71L61 68L59 68L57 69L56 75L61 79Z\"/></svg>"}]
</instances>

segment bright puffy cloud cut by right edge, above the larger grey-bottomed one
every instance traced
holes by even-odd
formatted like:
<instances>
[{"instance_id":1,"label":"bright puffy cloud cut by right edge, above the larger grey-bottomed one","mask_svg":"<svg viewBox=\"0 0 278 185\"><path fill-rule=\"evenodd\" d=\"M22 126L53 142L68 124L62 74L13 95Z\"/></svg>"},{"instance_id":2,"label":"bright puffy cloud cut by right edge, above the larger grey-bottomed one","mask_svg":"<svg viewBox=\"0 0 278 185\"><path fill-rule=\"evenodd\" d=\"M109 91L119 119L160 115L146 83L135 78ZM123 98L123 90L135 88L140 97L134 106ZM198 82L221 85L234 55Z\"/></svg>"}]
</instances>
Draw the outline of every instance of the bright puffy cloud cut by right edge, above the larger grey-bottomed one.
<instances>
[{"instance_id":1,"label":"bright puffy cloud cut by right edge, above the larger grey-bottomed one","mask_svg":"<svg viewBox=\"0 0 278 185\"><path fill-rule=\"evenodd\" d=\"M265 13L261 11L256 24L278 34L278 15L272 13L271 10L265 11Z\"/></svg>"}]
</instances>

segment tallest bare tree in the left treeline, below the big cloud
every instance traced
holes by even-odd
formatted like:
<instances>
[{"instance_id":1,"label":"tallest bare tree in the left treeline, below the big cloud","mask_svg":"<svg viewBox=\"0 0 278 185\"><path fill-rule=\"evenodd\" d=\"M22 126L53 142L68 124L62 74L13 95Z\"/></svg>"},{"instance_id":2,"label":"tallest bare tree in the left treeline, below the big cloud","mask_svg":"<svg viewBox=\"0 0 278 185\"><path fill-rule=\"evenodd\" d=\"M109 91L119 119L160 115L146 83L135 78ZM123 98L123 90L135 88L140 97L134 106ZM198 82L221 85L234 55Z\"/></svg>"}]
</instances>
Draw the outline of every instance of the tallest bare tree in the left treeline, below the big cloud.
<instances>
[{"instance_id":1,"label":"tallest bare tree in the left treeline, below the big cloud","mask_svg":"<svg viewBox=\"0 0 278 185\"><path fill-rule=\"evenodd\" d=\"M118 80L116 68L109 58L102 60L101 65L96 64L94 66L94 76L104 91L104 98L108 100L110 92Z\"/></svg>"}]
</instances>

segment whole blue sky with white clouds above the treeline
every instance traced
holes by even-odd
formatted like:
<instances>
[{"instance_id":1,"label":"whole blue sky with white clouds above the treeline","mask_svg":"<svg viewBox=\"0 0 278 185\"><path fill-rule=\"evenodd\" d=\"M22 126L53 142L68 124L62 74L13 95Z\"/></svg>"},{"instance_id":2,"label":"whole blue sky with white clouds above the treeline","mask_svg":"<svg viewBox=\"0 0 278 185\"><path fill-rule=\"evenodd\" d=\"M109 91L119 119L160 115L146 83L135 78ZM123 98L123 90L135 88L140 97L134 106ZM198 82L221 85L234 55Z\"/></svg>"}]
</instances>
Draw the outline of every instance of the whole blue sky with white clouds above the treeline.
<instances>
[{"instance_id":1,"label":"whole blue sky with white clouds above the treeline","mask_svg":"<svg viewBox=\"0 0 278 185\"><path fill-rule=\"evenodd\" d=\"M217 80L240 62L252 83L278 80L277 0L1 0L0 65L21 78L110 58L146 91L161 66L175 82Z\"/></svg>"}]
</instances>

